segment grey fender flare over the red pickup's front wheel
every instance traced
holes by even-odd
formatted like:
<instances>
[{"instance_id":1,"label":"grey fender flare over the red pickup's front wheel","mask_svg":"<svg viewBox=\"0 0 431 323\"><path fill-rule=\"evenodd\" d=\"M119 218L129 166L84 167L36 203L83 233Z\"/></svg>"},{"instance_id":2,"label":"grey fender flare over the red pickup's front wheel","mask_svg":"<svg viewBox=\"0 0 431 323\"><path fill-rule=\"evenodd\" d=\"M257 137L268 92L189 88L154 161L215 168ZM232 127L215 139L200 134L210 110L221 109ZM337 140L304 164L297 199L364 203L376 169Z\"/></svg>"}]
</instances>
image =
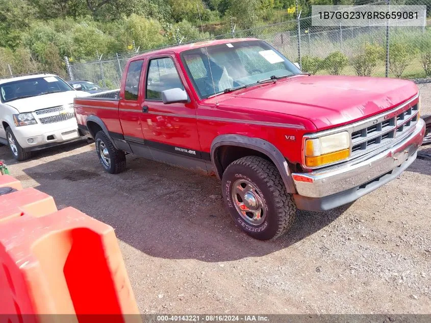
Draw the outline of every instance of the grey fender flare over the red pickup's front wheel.
<instances>
[{"instance_id":1,"label":"grey fender flare over the red pickup's front wheel","mask_svg":"<svg viewBox=\"0 0 431 323\"><path fill-rule=\"evenodd\" d=\"M221 179L221 165L218 165L216 162L215 152L220 146L240 146L265 154L274 163L275 167L277 167L278 172L280 172L287 192L292 194L296 193L295 185L293 184L292 177L290 176L289 165L287 164L286 158L272 143L260 138L252 138L241 135L217 136L211 144L211 161L219 179Z\"/></svg>"}]
</instances>

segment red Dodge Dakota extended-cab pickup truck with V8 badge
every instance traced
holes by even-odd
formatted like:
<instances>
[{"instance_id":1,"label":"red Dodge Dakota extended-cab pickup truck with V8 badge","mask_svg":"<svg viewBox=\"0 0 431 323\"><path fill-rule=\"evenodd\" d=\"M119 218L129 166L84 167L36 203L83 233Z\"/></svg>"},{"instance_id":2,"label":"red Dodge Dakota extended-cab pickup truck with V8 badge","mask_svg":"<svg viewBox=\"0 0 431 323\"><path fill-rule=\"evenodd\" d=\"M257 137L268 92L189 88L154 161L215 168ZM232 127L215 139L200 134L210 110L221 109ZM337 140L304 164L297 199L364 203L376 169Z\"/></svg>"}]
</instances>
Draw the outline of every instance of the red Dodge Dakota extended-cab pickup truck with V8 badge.
<instances>
[{"instance_id":1,"label":"red Dodge Dakota extended-cab pickup truck with V8 badge","mask_svg":"<svg viewBox=\"0 0 431 323\"><path fill-rule=\"evenodd\" d=\"M399 176L425 129L414 83L311 76L258 39L136 56L112 98L74 109L106 171L133 153L215 175L236 224L262 240L296 208L332 209Z\"/></svg>"}]
</instances>

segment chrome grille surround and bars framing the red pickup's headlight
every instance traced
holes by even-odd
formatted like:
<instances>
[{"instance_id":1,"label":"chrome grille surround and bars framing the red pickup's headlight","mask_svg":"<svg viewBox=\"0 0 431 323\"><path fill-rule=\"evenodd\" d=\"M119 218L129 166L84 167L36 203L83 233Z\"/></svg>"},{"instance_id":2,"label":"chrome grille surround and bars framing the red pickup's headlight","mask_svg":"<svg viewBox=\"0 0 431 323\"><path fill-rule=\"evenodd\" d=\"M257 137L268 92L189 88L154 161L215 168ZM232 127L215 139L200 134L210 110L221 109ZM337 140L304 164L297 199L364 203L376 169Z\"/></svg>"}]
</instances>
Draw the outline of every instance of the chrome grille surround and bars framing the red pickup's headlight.
<instances>
[{"instance_id":1,"label":"chrome grille surround and bars framing the red pickup's headlight","mask_svg":"<svg viewBox=\"0 0 431 323\"><path fill-rule=\"evenodd\" d=\"M375 115L373 117L369 117L365 120L362 121L358 121L355 123L352 123L351 125L347 125L347 126L343 126L343 127L339 127L339 128L335 128L335 129L329 129L329 130L325 130L325 131L321 131L321 132L317 132L317 133L313 133L313 134L306 134L302 137L302 168L305 169L317 169L317 168L324 168L324 167L328 167L328 166L332 166L332 165L336 165L336 164L340 164L340 163L345 163L347 161L351 161L352 159L356 159L360 156L364 156L367 155L371 152L374 151L380 151L381 148L383 147L387 147L387 146L391 146L399 141L402 141L404 138L406 138L414 129L414 125L416 125L416 122L418 121L418 103L416 103L414 106L411 106L411 108L407 109L407 110L403 110L406 106L409 106L412 102L416 101L419 97L419 93L416 94L415 96L413 96L410 100L400 104L399 106ZM402 111L400 111L402 110ZM405 115L404 113L411 111L411 114L408 114L409 117L407 119L405 119ZM396 115L394 113L398 112ZM400 116L402 114L403 119L400 119L399 122L397 121L397 117ZM388 118L388 116L390 116L390 118ZM369 127L372 126L376 126L379 125L381 126L385 121L390 121L389 122L389 126L386 125L385 129L383 129L383 127L381 128L381 130L374 134L373 136L366 136L367 134L365 134L365 132L367 131L367 129ZM410 122L409 125L407 125L407 123L409 123L409 121L413 121ZM396 123L395 123L396 122ZM406 127L403 127L406 126ZM305 147L305 141L307 139L312 139L312 138L319 138L322 136L326 136L326 135L331 135L331 134L335 134L335 133L339 133L339 132L343 132L343 131L347 131L350 134L350 157L343 159L341 161L337 161L334 163L330 163L330 164L326 164L323 166L317 166L317 167L308 167L305 164L305 152L304 152L304 147ZM386 135L387 133L390 133L391 131L394 131L394 137L393 138L384 138L384 140L381 140L381 142L378 143L374 143L374 144L370 144L368 146L365 146L365 143L367 143L368 141L371 141L375 138L381 138L382 136ZM361 133L361 136L359 136L358 134ZM374 133L374 132L371 132ZM362 137L362 135L364 135L364 137ZM361 140L361 141L360 141ZM358 147L359 143L361 143L363 146Z\"/></svg>"}]
</instances>

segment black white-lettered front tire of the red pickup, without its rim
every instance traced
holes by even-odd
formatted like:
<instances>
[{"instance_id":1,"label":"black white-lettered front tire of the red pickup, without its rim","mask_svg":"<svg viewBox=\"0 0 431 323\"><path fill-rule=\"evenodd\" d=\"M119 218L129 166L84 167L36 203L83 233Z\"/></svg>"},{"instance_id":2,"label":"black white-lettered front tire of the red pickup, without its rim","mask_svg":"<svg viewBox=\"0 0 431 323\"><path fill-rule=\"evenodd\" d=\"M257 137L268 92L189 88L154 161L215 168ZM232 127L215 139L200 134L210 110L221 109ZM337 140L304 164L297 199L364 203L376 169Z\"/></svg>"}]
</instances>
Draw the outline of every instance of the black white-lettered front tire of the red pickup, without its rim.
<instances>
[{"instance_id":1,"label":"black white-lettered front tire of the red pickup, without its rim","mask_svg":"<svg viewBox=\"0 0 431 323\"><path fill-rule=\"evenodd\" d=\"M263 198L267 213L261 225L250 225L237 211L232 190L238 179L253 184ZM295 219L296 205L292 194L286 192L275 165L262 157L243 157L227 166L222 178L222 194L235 224L253 238L269 240L280 237L290 229Z\"/></svg>"}]
</instances>

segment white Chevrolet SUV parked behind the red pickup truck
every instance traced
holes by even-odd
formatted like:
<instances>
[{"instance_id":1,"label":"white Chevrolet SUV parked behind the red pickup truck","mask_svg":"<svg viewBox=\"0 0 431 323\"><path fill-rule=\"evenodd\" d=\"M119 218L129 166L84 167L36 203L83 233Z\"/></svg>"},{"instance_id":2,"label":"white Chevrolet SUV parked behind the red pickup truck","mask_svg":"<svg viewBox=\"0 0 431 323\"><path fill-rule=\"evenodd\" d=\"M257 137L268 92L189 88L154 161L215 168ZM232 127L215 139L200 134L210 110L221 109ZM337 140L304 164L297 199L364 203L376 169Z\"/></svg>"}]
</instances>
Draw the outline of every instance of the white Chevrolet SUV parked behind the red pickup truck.
<instances>
[{"instance_id":1,"label":"white Chevrolet SUV parked behind the red pickup truck","mask_svg":"<svg viewBox=\"0 0 431 323\"><path fill-rule=\"evenodd\" d=\"M88 95L54 74L0 80L0 143L22 161L35 150L80 138L73 98Z\"/></svg>"}]
</instances>

